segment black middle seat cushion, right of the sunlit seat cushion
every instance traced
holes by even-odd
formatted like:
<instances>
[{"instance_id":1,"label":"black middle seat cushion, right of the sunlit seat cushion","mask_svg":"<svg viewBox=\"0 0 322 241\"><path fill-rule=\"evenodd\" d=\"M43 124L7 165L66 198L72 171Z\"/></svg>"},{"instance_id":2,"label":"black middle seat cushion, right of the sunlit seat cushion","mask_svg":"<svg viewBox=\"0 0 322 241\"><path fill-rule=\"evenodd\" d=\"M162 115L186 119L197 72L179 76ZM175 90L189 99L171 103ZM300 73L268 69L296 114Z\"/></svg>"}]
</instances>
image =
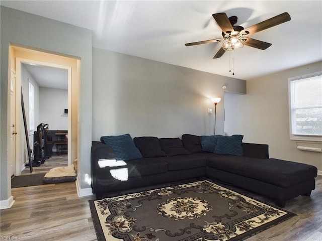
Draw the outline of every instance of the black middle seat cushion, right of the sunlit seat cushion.
<instances>
[{"instance_id":1,"label":"black middle seat cushion, right of the sunlit seat cushion","mask_svg":"<svg viewBox=\"0 0 322 241\"><path fill-rule=\"evenodd\" d=\"M205 154L210 154L210 153L205 153ZM207 165L207 157L204 156L203 153L173 156L173 157L167 157L162 159L168 163L169 171L206 167Z\"/></svg>"}]
</instances>

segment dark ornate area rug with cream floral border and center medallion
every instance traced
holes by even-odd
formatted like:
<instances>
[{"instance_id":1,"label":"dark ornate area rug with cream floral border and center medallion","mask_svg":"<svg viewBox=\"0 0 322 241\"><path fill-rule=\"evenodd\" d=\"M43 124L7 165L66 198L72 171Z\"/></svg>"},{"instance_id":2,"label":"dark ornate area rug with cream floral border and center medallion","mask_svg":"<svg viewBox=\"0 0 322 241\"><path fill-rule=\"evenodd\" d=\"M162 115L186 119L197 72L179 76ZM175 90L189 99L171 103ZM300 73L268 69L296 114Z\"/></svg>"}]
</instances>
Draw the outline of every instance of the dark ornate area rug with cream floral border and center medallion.
<instances>
[{"instance_id":1,"label":"dark ornate area rug with cream floral border and center medallion","mask_svg":"<svg viewBox=\"0 0 322 241\"><path fill-rule=\"evenodd\" d=\"M296 215L210 181L90 201L98 240L244 240Z\"/></svg>"}]
</instances>

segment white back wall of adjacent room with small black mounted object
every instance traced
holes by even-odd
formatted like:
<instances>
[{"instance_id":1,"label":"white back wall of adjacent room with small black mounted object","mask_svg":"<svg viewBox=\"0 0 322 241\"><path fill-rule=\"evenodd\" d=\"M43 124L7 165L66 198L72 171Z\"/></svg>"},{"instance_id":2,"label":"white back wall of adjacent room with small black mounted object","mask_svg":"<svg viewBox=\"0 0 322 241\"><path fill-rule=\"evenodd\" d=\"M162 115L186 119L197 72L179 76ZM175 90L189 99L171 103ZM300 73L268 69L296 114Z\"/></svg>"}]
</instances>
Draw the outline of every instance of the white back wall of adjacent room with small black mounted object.
<instances>
[{"instance_id":1,"label":"white back wall of adjacent room with small black mounted object","mask_svg":"<svg viewBox=\"0 0 322 241\"><path fill-rule=\"evenodd\" d=\"M67 106L66 89L39 88L39 122L49 124L49 130L68 130L68 115L64 113Z\"/></svg>"}]
</instances>

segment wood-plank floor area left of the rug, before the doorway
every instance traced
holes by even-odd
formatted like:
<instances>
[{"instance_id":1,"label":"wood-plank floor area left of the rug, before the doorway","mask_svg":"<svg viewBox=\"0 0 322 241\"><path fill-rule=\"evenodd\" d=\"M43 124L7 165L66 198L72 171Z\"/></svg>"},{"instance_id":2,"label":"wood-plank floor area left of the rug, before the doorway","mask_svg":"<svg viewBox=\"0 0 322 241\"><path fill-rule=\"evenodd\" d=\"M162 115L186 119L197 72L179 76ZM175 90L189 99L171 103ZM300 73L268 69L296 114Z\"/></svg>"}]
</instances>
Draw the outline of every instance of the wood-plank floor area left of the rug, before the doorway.
<instances>
[{"instance_id":1,"label":"wood-plank floor area left of the rug, before the doorway","mask_svg":"<svg viewBox=\"0 0 322 241\"><path fill-rule=\"evenodd\" d=\"M74 182L13 188L12 195L13 207L0 214L6 240L97 240L88 203L94 196L78 198Z\"/></svg>"}]
</instances>

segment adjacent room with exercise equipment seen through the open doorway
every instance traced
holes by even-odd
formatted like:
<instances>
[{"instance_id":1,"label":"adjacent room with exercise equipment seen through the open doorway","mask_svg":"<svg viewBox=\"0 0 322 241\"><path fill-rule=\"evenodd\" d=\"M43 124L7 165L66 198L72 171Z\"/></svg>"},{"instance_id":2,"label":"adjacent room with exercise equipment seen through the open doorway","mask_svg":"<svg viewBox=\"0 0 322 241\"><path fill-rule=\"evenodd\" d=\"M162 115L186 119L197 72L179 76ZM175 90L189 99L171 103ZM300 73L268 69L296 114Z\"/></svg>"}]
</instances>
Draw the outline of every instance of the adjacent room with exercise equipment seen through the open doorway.
<instances>
[{"instance_id":1,"label":"adjacent room with exercise equipment seen through the open doorway","mask_svg":"<svg viewBox=\"0 0 322 241\"><path fill-rule=\"evenodd\" d=\"M67 166L68 70L30 63L22 63L21 70L33 160L33 172L28 163L21 175L44 175L52 168Z\"/></svg>"}]
</instances>

